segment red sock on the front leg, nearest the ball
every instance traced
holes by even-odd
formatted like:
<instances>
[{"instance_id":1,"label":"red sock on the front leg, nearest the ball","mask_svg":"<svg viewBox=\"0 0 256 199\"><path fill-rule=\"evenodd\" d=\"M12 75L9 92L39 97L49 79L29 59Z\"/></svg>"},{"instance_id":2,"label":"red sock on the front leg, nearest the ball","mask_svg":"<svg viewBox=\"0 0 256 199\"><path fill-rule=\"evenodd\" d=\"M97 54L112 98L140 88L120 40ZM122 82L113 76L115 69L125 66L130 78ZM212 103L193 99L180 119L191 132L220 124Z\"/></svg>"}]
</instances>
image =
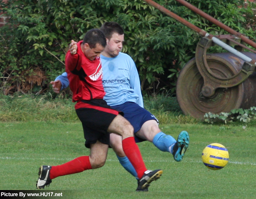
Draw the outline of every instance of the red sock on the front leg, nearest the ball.
<instances>
[{"instance_id":1,"label":"red sock on the front leg, nearest the ball","mask_svg":"<svg viewBox=\"0 0 256 199\"><path fill-rule=\"evenodd\" d=\"M140 154L140 149L138 145L135 143L134 137L128 137L122 141L122 148L125 152L125 155L134 166L138 178L142 178L144 172L147 170L145 163Z\"/></svg>"}]
</instances>

